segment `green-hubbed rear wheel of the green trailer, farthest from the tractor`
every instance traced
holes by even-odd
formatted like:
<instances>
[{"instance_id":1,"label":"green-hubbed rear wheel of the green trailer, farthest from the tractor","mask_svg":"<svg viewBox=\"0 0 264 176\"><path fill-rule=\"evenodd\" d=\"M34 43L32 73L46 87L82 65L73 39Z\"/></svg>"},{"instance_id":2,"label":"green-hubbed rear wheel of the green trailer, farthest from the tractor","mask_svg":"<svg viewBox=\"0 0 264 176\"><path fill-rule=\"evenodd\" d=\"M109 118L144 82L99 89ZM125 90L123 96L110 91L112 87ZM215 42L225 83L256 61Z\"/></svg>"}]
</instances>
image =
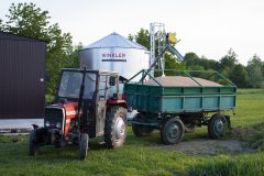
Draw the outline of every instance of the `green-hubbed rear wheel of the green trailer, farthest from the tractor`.
<instances>
[{"instance_id":1,"label":"green-hubbed rear wheel of the green trailer, farthest from the tractor","mask_svg":"<svg viewBox=\"0 0 264 176\"><path fill-rule=\"evenodd\" d=\"M210 139L218 140L224 138L228 130L228 122L221 114L213 114L208 123L208 135Z\"/></svg>"}]
</instances>

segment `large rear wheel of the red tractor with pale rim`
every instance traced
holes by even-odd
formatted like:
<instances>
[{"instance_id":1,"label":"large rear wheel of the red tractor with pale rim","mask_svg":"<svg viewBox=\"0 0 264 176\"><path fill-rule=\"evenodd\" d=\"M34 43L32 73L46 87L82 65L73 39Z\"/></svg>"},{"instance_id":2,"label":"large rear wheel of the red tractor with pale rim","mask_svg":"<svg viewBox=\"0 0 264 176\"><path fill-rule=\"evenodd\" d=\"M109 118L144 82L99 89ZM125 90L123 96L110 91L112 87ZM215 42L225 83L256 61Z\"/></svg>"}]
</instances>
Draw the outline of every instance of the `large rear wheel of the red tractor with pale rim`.
<instances>
[{"instance_id":1,"label":"large rear wheel of the red tractor with pale rim","mask_svg":"<svg viewBox=\"0 0 264 176\"><path fill-rule=\"evenodd\" d=\"M127 138L127 109L112 107L106 117L105 142L108 148L122 146Z\"/></svg>"}]
</instances>

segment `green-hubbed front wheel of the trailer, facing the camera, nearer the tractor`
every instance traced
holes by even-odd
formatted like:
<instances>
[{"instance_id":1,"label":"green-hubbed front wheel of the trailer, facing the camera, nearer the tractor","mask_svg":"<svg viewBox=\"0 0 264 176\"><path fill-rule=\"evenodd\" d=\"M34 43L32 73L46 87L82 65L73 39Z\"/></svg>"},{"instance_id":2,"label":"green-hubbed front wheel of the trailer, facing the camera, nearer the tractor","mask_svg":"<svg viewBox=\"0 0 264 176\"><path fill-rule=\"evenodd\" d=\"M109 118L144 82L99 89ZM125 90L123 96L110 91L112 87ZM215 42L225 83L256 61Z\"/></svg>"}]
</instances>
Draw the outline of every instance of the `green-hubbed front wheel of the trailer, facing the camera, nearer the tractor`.
<instances>
[{"instance_id":1,"label":"green-hubbed front wheel of the trailer, facing the camera, nearer the tractor","mask_svg":"<svg viewBox=\"0 0 264 176\"><path fill-rule=\"evenodd\" d=\"M184 123L178 118L170 118L163 122L161 138L164 144L176 144L184 138Z\"/></svg>"}]
</instances>

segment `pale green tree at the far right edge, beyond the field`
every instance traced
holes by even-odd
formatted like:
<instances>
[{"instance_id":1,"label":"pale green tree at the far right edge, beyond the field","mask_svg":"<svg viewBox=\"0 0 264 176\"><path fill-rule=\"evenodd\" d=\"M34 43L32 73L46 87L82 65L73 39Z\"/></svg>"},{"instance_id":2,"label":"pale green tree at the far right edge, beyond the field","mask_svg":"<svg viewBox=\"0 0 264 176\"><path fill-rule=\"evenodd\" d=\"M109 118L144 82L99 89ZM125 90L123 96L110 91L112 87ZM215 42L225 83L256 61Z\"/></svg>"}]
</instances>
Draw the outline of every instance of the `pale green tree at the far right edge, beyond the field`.
<instances>
[{"instance_id":1,"label":"pale green tree at the far right edge, beyond the field","mask_svg":"<svg viewBox=\"0 0 264 176\"><path fill-rule=\"evenodd\" d=\"M256 54L248 62L246 70L249 73L249 86L260 88L263 81L262 61Z\"/></svg>"}]
</instances>

